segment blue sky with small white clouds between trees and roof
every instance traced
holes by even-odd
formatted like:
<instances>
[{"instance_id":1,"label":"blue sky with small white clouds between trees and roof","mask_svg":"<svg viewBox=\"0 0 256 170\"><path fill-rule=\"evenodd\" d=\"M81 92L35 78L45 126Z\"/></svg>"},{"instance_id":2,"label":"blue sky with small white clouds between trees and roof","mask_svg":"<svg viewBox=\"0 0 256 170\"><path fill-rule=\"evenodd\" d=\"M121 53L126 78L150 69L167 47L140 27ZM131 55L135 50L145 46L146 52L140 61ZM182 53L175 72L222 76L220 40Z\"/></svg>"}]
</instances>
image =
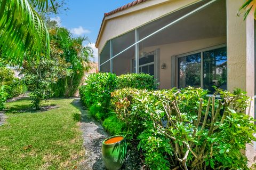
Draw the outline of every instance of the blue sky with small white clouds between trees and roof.
<instances>
[{"instance_id":1,"label":"blue sky with small white clouds between trees and roof","mask_svg":"<svg viewBox=\"0 0 256 170\"><path fill-rule=\"evenodd\" d=\"M104 13L130 2L132 0L69 0L67 2L69 10L52 16L52 19L60 20L60 25L68 28L74 36L87 36L94 50L94 61L97 61L98 51L94 44Z\"/></svg>"}]
</instances>

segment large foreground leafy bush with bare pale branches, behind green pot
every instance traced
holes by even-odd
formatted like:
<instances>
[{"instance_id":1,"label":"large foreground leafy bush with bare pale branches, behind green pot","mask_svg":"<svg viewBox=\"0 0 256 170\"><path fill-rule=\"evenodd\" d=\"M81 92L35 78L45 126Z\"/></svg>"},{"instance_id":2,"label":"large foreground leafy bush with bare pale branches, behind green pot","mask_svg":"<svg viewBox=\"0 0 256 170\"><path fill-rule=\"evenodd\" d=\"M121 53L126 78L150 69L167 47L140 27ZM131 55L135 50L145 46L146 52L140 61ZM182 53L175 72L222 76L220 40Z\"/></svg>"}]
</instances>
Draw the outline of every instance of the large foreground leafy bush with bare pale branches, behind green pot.
<instances>
[{"instance_id":1,"label":"large foreground leafy bush with bare pale branches, behind green pot","mask_svg":"<svg viewBox=\"0 0 256 170\"><path fill-rule=\"evenodd\" d=\"M219 99L201 88L124 88L111 103L150 169L248 169L241 150L256 132L244 115L249 100L240 90L217 93Z\"/></svg>"}]
</instances>

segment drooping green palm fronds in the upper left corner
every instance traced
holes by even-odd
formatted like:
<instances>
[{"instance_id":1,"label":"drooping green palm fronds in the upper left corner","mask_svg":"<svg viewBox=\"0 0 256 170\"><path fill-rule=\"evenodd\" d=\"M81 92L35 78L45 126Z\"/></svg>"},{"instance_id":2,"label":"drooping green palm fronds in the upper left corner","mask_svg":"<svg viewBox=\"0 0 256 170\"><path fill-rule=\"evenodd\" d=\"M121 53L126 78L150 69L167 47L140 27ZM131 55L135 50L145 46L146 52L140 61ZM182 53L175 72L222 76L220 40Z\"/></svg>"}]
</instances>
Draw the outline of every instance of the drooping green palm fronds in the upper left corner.
<instances>
[{"instance_id":1,"label":"drooping green palm fronds in the upper left corner","mask_svg":"<svg viewBox=\"0 0 256 170\"><path fill-rule=\"evenodd\" d=\"M0 58L20 63L24 56L50 54L49 33L35 8L43 11L53 1L0 0Z\"/></svg>"}]
</instances>

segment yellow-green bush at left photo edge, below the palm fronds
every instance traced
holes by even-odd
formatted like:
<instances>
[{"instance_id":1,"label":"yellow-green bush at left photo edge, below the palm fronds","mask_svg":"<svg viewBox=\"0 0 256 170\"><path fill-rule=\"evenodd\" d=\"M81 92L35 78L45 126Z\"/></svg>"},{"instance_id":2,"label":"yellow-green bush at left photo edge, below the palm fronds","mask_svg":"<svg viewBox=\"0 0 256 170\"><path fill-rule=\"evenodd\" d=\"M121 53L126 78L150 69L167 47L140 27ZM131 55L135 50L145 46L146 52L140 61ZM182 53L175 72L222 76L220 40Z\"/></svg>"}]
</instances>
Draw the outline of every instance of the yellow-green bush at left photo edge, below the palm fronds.
<instances>
[{"instance_id":1,"label":"yellow-green bush at left photo edge, below the palm fronds","mask_svg":"<svg viewBox=\"0 0 256 170\"><path fill-rule=\"evenodd\" d=\"M13 70L6 67L0 67L0 85L4 85L7 99L17 97L26 92L26 85L19 78L14 77Z\"/></svg>"}]
</instances>

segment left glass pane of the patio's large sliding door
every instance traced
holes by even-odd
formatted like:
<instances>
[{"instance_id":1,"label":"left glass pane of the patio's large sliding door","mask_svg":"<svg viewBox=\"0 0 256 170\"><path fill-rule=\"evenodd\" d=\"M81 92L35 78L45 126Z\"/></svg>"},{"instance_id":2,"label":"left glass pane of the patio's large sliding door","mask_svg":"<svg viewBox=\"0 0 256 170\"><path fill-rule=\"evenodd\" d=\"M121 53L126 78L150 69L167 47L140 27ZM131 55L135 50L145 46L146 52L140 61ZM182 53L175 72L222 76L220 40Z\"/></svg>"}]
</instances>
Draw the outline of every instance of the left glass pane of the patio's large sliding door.
<instances>
[{"instance_id":1,"label":"left glass pane of the patio's large sliding door","mask_svg":"<svg viewBox=\"0 0 256 170\"><path fill-rule=\"evenodd\" d=\"M201 53L182 56L179 63L179 88L201 87Z\"/></svg>"}]
</instances>

